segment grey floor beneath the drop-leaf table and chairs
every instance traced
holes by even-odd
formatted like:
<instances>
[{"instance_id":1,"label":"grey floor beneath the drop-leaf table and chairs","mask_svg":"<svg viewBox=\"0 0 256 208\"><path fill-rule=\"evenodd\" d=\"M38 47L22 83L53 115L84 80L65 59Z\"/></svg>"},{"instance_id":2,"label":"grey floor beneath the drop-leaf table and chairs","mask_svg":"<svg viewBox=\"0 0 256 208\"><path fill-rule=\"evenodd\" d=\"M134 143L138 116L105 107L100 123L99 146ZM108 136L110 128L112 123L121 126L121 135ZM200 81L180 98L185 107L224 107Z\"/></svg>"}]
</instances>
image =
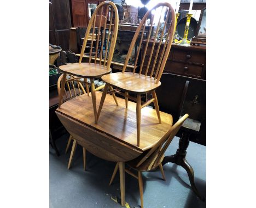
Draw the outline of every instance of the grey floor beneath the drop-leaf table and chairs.
<instances>
[{"instance_id":1,"label":"grey floor beneath the drop-leaf table and chairs","mask_svg":"<svg viewBox=\"0 0 256 208\"><path fill-rule=\"evenodd\" d=\"M56 140L60 156L50 148L50 207L121 207L110 197L120 197L119 174L111 186L109 180L114 162L104 161L87 152L87 170L83 169L83 151L77 146L71 169L67 169L71 149L65 155L68 135ZM165 155L172 155L178 147L178 137L174 137ZM206 198L206 147L190 142L187 161L194 169L195 184ZM206 201L196 197L190 188L189 178L182 167L173 163L164 166L166 181L160 171L143 172L144 207L206 207ZM137 179L125 174L125 201L133 207L140 207Z\"/></svg>"}]
</instances>

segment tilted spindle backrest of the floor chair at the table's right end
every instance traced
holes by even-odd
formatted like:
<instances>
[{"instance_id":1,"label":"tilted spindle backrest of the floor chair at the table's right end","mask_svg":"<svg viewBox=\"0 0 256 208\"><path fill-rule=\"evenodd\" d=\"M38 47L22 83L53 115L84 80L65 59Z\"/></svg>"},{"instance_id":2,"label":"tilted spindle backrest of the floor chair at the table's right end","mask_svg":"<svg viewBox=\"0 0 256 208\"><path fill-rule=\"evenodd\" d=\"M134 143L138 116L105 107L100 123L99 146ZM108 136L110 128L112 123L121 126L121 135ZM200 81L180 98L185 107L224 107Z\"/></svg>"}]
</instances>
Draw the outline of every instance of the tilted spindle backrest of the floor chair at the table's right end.
<instances>
[{"instance_id":1,"label":"tilted spindle backrest of the floor chair at the table's right end","mask_svg":"<svg viewBox=\"0 0 256 208\"><path fill-rule=\"evenodd\" d=\"M162 137L158 143L156 143L152 149L137 163L136 167L141 166L143 162L145 162L148 158L150 158L152 161L148 162L148 169L155 168L155 164L159 164L161 161L162 156L164 155L166 149L172 142L172 139L177 134L179 129L181 128L184 121L189 117L188 114L183 115L182 118L180 118L171 128L168 130L168 132L165 134L164 137ZM152 156L153 157L150 157Z\"/></svg>"}]
</instances>

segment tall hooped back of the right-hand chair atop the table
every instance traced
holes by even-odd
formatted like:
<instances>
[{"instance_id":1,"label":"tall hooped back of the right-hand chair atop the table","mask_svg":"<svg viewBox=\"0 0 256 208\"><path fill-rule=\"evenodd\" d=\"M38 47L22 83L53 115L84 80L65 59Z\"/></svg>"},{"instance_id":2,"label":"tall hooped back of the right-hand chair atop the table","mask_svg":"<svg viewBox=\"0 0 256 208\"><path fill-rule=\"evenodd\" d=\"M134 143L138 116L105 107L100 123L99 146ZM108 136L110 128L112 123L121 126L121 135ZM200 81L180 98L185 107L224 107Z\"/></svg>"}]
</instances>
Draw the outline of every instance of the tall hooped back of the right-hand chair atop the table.
<instances>
[{"instance_id":1,"label":"tall hooped back of the right-hand chair atop the table","mask_svg":"<svg viewBox=\"0 0 256 208\"><path fill-rule=\"evenodd\" d=\"M141 50L142 39L143 39L143 36L144 36L144 30L145 30L145 27L146 27L147 19L149 19L149 15L151 15L153 10L155 10L155 13L156 13L156 9L158 9L160 7L161 7L161 15L159 16L159 19L158 19L158 24L156 26L156 32L155 32L154 38L152 39L152 41L150 41L150 42L153 42L152 43L152 49L151 49L149 60L148 60L148 63L147 63L147 69L146 69L146 72L144 74L145 76L147 76L148 70L149 70L149 68L151 68L150 63L152 62L153 66L152 66L152 69L151 69L151 72L150 72L149 75L150 75L150 77L153 77L153 75L154 75L154 79L156 80L156 83L158 83L160 78L161 78L162 71L164 70L166 60L167 60L168 54L171 50L171 45L172 45L172 40L173 40L176 14L175 14L174 9L172 8L171 4L169 4L169 3L158 3L158 4L155 5L155 7L148 10L147 13L144 15L141 23L139 24L139 26L138 26L138 28L135 32L135 35L133 36L129 51L128 51L126 59L125 59L124 67L123 67L123 70L122 70L122 72L124 73L125 70L126 70L126 66L127 66L128 62L131 58L133 47L137 47L137 46L135 46L136 40L137 40L139 34L141 33L141 39L139 40L139 46L138 46L138 49L137 49L138 52L137 52L137 56L135 58L135 65L134 65L134 68L133 68L133 74L135 73L135 69L136 69L136 65L137 65L137 61L138 61L139 51ZM165 12L164 12L164 10L165 10ZM148 48L148 44L149 44L149 39L150 39L150 36L151 36L151 33L152 33L152 27L153 27L153 23L154 23L154 19L155 19L155 13L152 15L152 18L150 20L151 21L150 22L150 29L149 29L149 34L148 34L146 46L144 47L144 53L141 56L142 60L141 60L141 64L140 64L141 66L140 66L140 69L139 69L139 75L142 74L142 68L143 68L145 57L146 57L146 52L147 52L147 48ZM164 26L162 27L160 39L158 41L156 41L159 29L160 29L161 19L162 19L162 17L164 17L163 16L164 14L166 14L166 19L165 19L165 22L164 22ZM167 23L170 19L170 15L171 15L171 24L170 24L170 27L167 29ZM142 31L141 31L141 29L142 29ZM164 42L164 32L165 32L166 29L167 29L167 34L166 34L166 38L165 38L165 42ZM155 45L158 45L156 52L154 50ZM161 52L160 52L160 48L162 48ZM153 52L154 52L154 54L153 54ZM152 59L152 55L155 56L153 59ZM156 63L157 59L159 59L158 63ZM155 67L156 67L156 70L155 70Z\"/></svg>"}]
</instances>

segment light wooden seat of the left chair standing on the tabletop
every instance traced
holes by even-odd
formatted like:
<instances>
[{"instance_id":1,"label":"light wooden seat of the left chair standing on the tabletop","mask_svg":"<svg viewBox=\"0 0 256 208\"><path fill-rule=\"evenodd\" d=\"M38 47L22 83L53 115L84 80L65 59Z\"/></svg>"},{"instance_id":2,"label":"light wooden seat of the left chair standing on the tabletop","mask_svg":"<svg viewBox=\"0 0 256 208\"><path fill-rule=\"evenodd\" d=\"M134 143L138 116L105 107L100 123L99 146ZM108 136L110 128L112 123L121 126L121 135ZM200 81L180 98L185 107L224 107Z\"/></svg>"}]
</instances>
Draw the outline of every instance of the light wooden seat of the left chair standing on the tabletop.
<instances>
[{"instance_id":1,"label":"light wooden seat of the left chair standing on the tabletop","mask_svg":"<svg viewBox=\"0 0 256 208\"><path fill-rule=\"evenodd\" d=\"M67 72L69 75L84 78L99 78L102 75L107 75L112 71L112 69L107 70L106 66L94 63L69 63L60 66L60 70Z\"/></svg>"}]
</instances>

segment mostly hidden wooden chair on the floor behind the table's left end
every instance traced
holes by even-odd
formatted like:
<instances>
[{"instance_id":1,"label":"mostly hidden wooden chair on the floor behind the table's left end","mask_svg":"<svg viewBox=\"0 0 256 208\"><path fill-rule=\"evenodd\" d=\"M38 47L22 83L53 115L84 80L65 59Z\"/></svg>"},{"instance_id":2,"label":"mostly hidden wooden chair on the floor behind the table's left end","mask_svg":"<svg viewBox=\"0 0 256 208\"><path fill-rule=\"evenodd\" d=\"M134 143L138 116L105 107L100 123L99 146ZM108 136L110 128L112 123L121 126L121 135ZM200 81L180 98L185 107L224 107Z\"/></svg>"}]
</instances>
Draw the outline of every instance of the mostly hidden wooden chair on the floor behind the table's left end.
<instances>
[{"instance_id":1,"label":"mostly hidden wooden chair on the floor behind the table's left end","mask_svg":"<svg viewBox=\"0 0 256 208\"><path fill-rule=\"evenodd\" d=\"M63 84L62 77L63 77L63 74L59 77L59 79L57 81L57 91L58 91L59 97L60 97L60 90L61 90L62 85L66 85L66 89L68 91L67 92L66 89L64 88L64 90L63 90L64 93L62 94L62 102L66 102L68 100L73 99L74 97L77 97L82 94L86 94L86 90L84 89L83 85L80 82L77 82L77 88L75 88L75 83L74 83L74 79L73 79L74 76L68 75L67 79L65 81L65 84ZM72 150L71 150L71 155L70 155L69 161L68 161L68 169L71 167L75 149L77 148L77 141L70 135L68 138L68 143L67 143L67 147L65 150L65 154L67 153L72 140L74 140L74 142L73 142L73 146L72 146ZM85 148L83 148L83 159L84 159L84 170L85 170L86 169L86 149Z\"/></svg>"}]
</instances>

